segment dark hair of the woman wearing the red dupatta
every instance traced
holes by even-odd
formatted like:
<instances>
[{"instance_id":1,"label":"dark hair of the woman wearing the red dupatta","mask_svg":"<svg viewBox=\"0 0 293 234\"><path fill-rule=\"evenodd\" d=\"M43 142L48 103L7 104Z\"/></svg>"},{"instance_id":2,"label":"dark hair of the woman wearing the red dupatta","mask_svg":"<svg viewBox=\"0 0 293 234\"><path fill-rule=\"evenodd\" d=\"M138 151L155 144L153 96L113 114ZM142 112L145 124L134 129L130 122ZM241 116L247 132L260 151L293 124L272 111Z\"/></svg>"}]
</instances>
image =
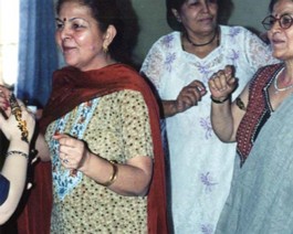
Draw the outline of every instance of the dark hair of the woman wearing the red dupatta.
<instances>
[{"instance_id":1,"label":"dark hair of the woman wearing the red dupatta","mask_svg":"<svg viewBox=\"0 0 293 234\"><path fill-rule=\"evenodd\" d=\"M119 0L117 0L119 1ZM100 30L106 32L109 25L115 26L117 34L108 46L108 53L118 62L129 61L129 54L126 53L124 43L124 22L116 0L59 0L56 3L56 13L60 13L61 7L65 2L76 2L87 7L92 17L97 21Z\"/></svg>"}]
</instances>

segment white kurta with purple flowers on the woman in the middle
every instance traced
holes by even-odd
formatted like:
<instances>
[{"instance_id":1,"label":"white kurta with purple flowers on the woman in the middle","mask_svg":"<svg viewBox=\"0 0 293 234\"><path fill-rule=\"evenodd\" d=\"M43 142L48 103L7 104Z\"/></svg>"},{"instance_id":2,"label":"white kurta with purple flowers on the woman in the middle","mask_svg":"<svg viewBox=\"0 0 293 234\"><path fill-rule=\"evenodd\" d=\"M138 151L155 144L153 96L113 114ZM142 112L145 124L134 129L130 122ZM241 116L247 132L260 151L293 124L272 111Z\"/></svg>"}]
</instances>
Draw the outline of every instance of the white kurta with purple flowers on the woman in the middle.
<instances>
[{"instance_id":1,"label":"white kurta with purple flowers on the woman in the middle","mask_svg":"<svg viewBox=\"0 0 293 234\"><path fill-rule=\"evenodd\" d=\"M275 63L271 50L241 26L221 26L220 46L200 59L182 50L179 32L161 36L146 56L142 73L164 100L176 99L184 86L208 79L226 65L236 67L236 97L255 71ZM166 119L169 145L170 209L175 233L211 234L229 194L234 143L223 143L210 123L210 93L185 113Z\"/></svg>"}]
</instances>

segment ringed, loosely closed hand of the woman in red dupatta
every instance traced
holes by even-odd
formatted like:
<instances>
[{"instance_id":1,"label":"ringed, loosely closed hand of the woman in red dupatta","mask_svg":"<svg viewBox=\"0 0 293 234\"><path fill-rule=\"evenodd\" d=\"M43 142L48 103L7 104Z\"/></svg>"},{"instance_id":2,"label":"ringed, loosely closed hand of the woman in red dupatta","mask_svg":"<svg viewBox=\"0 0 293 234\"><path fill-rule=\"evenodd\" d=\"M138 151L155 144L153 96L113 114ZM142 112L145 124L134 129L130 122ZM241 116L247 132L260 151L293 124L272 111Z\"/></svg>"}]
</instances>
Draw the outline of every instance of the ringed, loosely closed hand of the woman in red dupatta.
<instances>
[{"instance_id":1,"label":"ringed, loosely closed hand of the woman in red dupatta","mask_svg":"<svg viewBox=\"0 0 293 234\"><path fill-rule=\"evenodd\" d=\"M60 143L59 157L61 163L67 169L79 170L82 168L90 155L85 143L63 134L54 135L53 138Z\"/></svg>"}]
</instances>

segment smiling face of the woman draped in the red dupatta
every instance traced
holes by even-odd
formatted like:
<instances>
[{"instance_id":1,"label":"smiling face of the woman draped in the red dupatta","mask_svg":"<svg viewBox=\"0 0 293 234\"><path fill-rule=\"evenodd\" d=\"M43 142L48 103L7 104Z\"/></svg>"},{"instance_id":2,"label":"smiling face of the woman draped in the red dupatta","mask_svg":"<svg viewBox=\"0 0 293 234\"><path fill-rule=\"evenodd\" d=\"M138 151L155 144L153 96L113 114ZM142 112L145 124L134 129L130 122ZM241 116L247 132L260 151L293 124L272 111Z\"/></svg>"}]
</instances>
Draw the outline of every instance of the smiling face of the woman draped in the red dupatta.
<instances>
[{"instance_id":1,"label":"smiling face of the woman draped in the red dupatta","mask_svg":"<svg viewBox=\"0 0 293 234\"><path fill-rule=\"evenodd\" d=\"M55 40L67 65L82 71L107 65L103 44L108 45L107 32L102 33L91 10L76 2L61 6L56 19Z\"/></svg>"}]
</instances>

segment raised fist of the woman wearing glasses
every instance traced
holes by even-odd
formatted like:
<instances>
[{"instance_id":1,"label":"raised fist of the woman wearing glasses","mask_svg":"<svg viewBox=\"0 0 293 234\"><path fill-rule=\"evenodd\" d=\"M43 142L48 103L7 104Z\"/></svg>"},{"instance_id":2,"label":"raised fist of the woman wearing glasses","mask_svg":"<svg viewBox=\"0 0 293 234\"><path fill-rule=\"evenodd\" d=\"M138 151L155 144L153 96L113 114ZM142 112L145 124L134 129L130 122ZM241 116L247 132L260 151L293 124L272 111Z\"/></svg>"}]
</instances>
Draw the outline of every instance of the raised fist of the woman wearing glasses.
<instances>
[{"instance_id":1,"label":"raised fist of the woman wearing glasses","mask_svg":"<svg viewBox=\"0 0 293 234\"><path fill-rule=\"evenodd\" d=\"M214 73L209 79L209 89L213 99L226 99L237 87L237 79L233 77L232 66L226 66Z\"/></svg>"}]
</instances>

